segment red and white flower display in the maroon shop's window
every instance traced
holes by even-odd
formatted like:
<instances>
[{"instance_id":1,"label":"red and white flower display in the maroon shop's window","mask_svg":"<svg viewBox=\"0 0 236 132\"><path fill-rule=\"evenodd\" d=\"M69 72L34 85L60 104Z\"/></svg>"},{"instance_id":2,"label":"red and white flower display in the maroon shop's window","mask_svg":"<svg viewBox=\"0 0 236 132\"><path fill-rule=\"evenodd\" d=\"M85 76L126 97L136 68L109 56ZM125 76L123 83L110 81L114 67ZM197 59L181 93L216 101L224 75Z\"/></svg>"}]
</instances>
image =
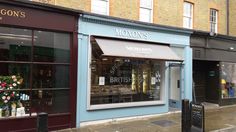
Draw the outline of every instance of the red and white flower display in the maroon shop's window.
<instances>
[{"instance_id":1,"label":"red and white flower display in the maroon shop's window","mask_svg":"<svg viewBox=\"0 0 236 132\"><path fill-rule=\"evenodd\" d=\"M15 104L20 100L19 91L23 78L20 76L0 76L0 106Z\"/></svg>"}]
</instances>

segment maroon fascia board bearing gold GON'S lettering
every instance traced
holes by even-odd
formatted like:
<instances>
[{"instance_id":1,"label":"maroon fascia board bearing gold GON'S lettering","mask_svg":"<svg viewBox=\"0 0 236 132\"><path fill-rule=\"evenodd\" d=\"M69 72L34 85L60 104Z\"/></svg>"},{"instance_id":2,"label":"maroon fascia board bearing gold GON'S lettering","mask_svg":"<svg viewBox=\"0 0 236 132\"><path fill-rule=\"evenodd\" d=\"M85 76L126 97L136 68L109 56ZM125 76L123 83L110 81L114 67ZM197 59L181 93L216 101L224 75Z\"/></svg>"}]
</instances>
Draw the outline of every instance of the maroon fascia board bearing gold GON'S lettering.
<instances>
[{"instance_id":1,"label":"maroon fascia board bearing gold GON'S lettering","mask_svg":"<svg viewBox=\"0 0 236 132\"><path fill-rule=\"evenodd\" d=\"M75 16L53 11L0 4L0 24L74 31L74 18Z\"/></svg>"}]
</instances>

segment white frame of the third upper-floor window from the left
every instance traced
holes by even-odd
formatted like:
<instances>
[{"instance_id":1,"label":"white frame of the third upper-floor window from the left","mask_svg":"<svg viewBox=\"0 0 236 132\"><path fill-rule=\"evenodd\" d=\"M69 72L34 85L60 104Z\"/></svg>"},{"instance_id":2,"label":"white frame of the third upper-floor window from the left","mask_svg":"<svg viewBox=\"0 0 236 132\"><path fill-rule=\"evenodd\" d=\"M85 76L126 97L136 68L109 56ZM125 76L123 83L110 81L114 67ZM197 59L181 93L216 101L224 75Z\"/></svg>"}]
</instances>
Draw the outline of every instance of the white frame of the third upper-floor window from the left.
<instances>
[{"instance_id":1,"label":"white frame of the third upper-floor window from the left","mask_svg":"<svg viewBox=\"0 0 236 132\"><path fill-rule=\"evenodd\" d=\"M190 16L186 16L185 14L185 4L188 4L188 5L190 5ZM193 3L191 3L191 2L188 2L188 1L184 1L184 4L183 4L183 27L184 28L188 28L188 29L193 29L193 11L194 11L194 4ZM190 27L187 27L187 26L185 26L184 25L184 19L185 18L187 18L189 21L189 23L190 23Z\"/></svg>"}]
</instances>

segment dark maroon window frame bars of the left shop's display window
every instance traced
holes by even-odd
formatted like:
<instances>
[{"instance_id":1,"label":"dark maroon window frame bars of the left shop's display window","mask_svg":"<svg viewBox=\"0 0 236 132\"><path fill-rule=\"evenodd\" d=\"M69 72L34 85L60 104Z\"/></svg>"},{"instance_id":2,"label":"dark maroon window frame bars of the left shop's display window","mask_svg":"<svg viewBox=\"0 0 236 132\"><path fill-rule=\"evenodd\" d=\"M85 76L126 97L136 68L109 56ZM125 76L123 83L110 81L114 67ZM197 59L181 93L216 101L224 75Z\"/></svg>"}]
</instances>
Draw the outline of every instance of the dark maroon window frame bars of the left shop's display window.
<instances>
[{"instance_id":1,"label":"dark maroon window frame bars of the left shop's display window","mask_svg":"<svg viewBox=\"0 0 236 132\"><path fill-rule=\"evenodd\" d=\"M29 65L29 87L28 88L22 88L22 89L18 89L17 91L19 92L29 92L29 99L28 101L30 102L30 104L32 104L32 101L33 101L33 97L32 97L32 93L34 91L52 91L52 92L55 92L55 91L63 91L63 90L68 90L69 92L69 95L68 95L68 99L69 101L71 101L71 97L70 97L70 92L72 90L72 81L69 81L69 87L65 87L65 88L34 88L33 87L33 80L34 80L34 77L33 77L33 69L34 69L34 65L51 65L51 66L68 66L69 67L69 77L71 77L71 67L72 67L72 61L71 61L71 57L72 57L72 45L73 45L73 41L72 41L72 35L68 32L62 32L62 31L55 31L55 30L39 30L39 29L33 29L33 28L24 28L24 27L10 27L10 26L0 26L0 27L6 27L6 28L13 28L13 29L20 29L20 30L29 30L31 32L31 39L29 40L30 41L30 45L31 46L31 53L30 53L30 59L29 60L0 60L0 63L1 64L14 64L14 65ZM35 37L35 32L37 31L42 31L42 32L50 32L50 33L60 33L60 34L66 34L69 36L69 50L70 50L70 60L69 62L46 62L46 61L35 61L34 60L34 47L36 47L37 45L35 44L35 40L34 40L34 37ZM3 91L14 91L14 90L3 90ZM69 102L70 103L70 102ZM18 119L18 118L22 118L22 117L26 117L26 118L30 118L30 117L33 117L35 116L35 114L37 112L32 112L32 109L33 109L33 106L30 105L30 108L29 108L29 113L28 114L25 114L24 116L15 116L13 117L13 119ZM26 110L25 110L26 111ZM66 112L49 112L49 111L45 111L47 113L49 113L50 115L51 114L65 114L65 113L71 113L71 104L69 104L69 107L68 107L68 111ZM2 119L8 119L9 117L2 117Z\"/></svg>"}]
</instances>

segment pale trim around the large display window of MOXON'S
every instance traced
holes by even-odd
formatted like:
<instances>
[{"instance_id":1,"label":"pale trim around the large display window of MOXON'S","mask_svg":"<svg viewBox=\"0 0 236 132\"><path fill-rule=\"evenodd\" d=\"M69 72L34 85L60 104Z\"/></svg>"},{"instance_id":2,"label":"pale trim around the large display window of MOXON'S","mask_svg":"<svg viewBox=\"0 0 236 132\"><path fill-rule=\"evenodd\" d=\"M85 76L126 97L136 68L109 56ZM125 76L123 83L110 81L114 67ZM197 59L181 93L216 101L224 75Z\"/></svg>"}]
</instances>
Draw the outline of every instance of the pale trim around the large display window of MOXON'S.
<instances>
[{"instance_id":1,"label":"pale trim around the large display window of MOXON'S","mask_svg":"<svg viewBox=\"0 0 236 132\"><path fill-rule=\"evenodd\" d=\"M99 104L99 105L91 105L91 57L92 57L92 45L91 45L91 36L88 37L88 64L87 64L87 74L88 74L88 81L87 81L87 110L101 110L101 109L113 109L113 108L127 108L127 107L137 107L137 106L157 106L157 105L166 105L166 92L168 84L166 84L166 63L162 63L162 80L161 83L161 92L160 92L160 100L155 101L140 101L140 102L128 102L128 103L114 103L114 104Z\"/></svg>"}]
</instances>

